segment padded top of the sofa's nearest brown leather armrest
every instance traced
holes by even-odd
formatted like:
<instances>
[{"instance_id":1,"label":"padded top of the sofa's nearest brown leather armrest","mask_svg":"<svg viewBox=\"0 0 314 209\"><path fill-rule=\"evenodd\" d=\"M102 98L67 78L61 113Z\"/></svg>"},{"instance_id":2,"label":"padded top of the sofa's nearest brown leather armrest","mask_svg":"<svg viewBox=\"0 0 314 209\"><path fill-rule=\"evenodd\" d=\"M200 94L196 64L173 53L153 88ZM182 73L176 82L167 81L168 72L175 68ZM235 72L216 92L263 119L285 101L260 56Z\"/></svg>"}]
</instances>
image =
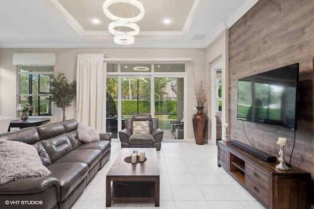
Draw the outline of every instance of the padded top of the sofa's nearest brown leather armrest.
<instances>
[{"instance_id":1,"label":"padded top of the sofa's nearest brown leather armrest","mask_svg":"<svg viewBox=\"0 0 314 209\"><path fill-rule=\"evenodd\" d=\"M60 195L60 183L56 178L52 177L32 177L17 179L12 182L0 185L1 194L30 194L38 193L46 190L48 187L54 186L58 197Z\"/></svg>"}]
</instances>

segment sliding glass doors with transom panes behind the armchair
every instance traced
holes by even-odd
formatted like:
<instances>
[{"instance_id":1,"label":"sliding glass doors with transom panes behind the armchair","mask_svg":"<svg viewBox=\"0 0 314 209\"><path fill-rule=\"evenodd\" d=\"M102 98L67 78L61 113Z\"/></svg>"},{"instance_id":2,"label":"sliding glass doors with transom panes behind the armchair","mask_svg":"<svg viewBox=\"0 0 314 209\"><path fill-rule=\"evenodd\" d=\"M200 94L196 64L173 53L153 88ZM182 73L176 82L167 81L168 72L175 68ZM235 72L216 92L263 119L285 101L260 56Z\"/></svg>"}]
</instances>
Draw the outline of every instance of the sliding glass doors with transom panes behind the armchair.
<instances>
[{"instance_id":1,"label":"sliding glass doors with transom panes behind the armchair","mask_svg":"<svg viewBox=\"0 0 314 209\"><path fill-rule=\"evenodd\" d=\"M136 66L148 70L135 72ZM170 73L171 70L175 73ZM107 64L107 131L118 138L118 131L125 128L127 118L152 114L159 119L163 139L183 139L184 81L185 64L181 63Z\"/></svg>"}]
</instances>

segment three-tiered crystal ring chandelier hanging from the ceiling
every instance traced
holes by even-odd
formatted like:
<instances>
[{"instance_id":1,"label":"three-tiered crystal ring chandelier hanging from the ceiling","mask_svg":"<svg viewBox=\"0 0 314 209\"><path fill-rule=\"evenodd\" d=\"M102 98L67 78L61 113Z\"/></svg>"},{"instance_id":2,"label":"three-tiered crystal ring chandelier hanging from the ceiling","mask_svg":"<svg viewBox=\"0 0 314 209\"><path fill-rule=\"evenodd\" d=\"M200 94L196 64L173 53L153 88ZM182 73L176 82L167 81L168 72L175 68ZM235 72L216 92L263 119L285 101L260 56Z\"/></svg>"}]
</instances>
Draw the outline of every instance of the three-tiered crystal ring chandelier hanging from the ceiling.
<instances>
[{"instance_id":1,"label":"three-tiered crystal ring chandelier hanging from the ceiling","mask_svg":"<svg viewBox=\"0 0 314 209\"><path fill-rule=\"evenodd\" d=\"M112 14L108 7L115 3L125 3L130 4L138 9L139 14L134 17L133 10L128 11L129 14L131 12L132 17L122 17L122 11L120 12L121 17L119 17L119 10L117 15ZM108 30L111 34L115 35L113 41L116 44L121 45L129 45L134 43L134 37L139 33L139 26L137 26L134 22L140 21L144 17L144 7L137 0L106 0L104 3L104 13L105 15L113 20L114 22L110 23L108 26ZM129 7L127 7L129 9ZM119 29L118 29L119 28ZM124 30L121 31L121 28L130 28L130 31Z\"/></svg>"}]
</instances>

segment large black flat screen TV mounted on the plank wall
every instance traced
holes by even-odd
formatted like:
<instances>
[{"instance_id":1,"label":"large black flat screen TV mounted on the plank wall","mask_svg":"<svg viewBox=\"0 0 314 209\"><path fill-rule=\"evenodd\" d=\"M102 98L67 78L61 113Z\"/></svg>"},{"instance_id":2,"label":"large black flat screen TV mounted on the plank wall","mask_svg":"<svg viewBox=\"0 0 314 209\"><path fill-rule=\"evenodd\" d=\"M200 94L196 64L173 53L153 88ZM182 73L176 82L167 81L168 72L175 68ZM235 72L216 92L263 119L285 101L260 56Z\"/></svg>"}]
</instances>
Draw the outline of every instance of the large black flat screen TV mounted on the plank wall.
<instances>
[{"instance_id":1,"label":"large black flat screen TV mounted on the plank wall","mask_svg":"<svg viewBox=\"0 0 314 209\"><path fill-rule=\"evenodd\" d=\"M238 79L237 119L296 130L299 63Z\"/></svg>"}]
</instances>

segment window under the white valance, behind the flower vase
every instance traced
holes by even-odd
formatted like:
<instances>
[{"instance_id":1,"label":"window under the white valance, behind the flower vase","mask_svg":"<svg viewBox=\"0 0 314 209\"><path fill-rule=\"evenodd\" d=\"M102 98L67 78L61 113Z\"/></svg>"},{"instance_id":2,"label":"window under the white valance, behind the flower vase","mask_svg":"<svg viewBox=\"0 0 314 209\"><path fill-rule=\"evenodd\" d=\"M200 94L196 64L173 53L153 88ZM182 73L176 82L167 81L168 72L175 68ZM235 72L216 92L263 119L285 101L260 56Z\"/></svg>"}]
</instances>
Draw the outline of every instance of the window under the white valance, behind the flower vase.
<instances>
[{"instance_id":1,"label":"window under the white valance, behind the flower vase","mask_svg":"<svg viewBox=\"0 0 314 209\"><path fill-rule=\"evenodd\" d=\"M53 78L52 66L19 67L19 104L29 103L34 111L29 116L51 116L52 101L50 81Z\"/></svg>"}]
</instances>

